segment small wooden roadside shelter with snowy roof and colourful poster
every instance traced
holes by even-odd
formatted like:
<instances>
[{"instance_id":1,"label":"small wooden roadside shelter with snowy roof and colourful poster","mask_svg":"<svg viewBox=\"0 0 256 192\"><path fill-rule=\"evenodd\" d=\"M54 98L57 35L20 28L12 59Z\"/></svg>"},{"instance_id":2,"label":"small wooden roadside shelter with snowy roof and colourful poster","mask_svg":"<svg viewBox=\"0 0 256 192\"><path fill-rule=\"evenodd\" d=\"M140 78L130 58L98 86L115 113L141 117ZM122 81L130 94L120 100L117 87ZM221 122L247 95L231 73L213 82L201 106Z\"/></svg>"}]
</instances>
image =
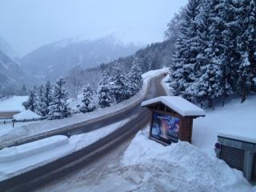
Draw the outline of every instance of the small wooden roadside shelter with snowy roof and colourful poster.
<instances>
[{"instance_id":1,"label":"small wooden roadside shelter with snowy roof and colourful poster","mask_svg":"<svg viewBox=\"0 0 256 192\"><path fill-rule=\"evenodd\" d=\"M150 138L165 144L191 142L193 119L205 116L204 110L178 96L152 98L141 106L152 113Z\"/></svg>"}]
</instances>

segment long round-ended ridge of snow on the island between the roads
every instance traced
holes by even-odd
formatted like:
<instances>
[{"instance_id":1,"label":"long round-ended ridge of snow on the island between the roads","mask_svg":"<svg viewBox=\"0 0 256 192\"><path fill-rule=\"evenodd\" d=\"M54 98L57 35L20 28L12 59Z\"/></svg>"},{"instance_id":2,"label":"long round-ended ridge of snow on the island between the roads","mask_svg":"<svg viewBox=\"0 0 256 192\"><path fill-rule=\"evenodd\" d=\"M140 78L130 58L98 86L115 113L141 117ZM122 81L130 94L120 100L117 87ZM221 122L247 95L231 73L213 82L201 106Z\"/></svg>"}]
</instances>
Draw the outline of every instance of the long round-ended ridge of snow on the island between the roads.
<instances>
[{"instance_id":1,"label":"long round-ended ridge of snow on the island between the roads","mask_svg":"<svg viewBox=\"0 0 256 192\"><path fill-rule=\"evenodd\" d=\"M29 142L21 146L12 146L0 150L0 162L14 162L21 158L29 158L31 155L52 150L58 146L65 146L69 139L64 135L44 138L35 142Z\"/></svg>"}]
</instances>

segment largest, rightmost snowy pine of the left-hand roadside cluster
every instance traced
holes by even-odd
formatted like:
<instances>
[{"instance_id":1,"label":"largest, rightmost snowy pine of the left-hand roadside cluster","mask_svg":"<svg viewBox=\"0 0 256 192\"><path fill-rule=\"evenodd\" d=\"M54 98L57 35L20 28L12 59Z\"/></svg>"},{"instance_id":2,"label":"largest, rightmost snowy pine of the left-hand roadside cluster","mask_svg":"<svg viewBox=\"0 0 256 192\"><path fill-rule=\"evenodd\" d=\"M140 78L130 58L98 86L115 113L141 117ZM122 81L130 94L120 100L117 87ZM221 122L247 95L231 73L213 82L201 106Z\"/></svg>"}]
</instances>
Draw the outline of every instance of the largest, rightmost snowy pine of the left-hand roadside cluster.
<instances>
[{"instance_id":1,"label":"largest, rightmost snowy pine of the left-hand roadside cluster","mask_svg":"<svg viewBox=\"0 0 256 192\"><path fill-rule=\"evenodd\" d=\"M64 78L58 78L54 86L53 100L49 106L49 119L68 118L71 115L70 108L66 102L68 94L64 85Z\"/></svg>"}]
</instances>

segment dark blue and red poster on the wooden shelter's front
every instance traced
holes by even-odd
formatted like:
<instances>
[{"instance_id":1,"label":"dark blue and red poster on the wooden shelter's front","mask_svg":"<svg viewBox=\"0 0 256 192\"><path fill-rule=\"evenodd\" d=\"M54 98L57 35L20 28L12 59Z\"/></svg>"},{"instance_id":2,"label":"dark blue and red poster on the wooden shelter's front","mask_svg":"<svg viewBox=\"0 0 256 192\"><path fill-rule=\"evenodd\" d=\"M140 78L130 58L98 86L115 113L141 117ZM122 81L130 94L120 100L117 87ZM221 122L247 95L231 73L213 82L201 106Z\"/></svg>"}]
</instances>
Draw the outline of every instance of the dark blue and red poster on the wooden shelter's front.
<instances>
[{"instance_id":1,"label":"dark blue and red poster on the wooden shelter's front","mask_svg":"<svg viewBox=\"0 0 256 192\"><path fill-rule=\"evenodd\" d=\"M178 142L179 118L156 112L152 115L150 136L167 144Z\"/></svg>"}]
</instances>

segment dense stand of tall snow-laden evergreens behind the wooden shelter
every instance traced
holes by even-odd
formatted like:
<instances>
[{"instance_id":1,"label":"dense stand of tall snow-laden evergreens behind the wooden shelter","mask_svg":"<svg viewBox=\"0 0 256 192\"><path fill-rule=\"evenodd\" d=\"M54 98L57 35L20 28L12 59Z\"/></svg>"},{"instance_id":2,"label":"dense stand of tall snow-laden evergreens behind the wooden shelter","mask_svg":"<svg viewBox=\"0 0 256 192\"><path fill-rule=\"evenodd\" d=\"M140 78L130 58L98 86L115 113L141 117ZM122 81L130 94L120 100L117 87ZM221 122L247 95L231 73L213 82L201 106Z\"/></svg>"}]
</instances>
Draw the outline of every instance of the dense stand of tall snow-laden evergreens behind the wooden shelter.
<instances>
[{"instance_id":1,"label":"dense stand of tall snow-laden evergreens behind the wooden shelter","mask_svg":"<svg viewBox=\"0 0 256 192\"><path fill-rule=\"evenodd\" d=\"M173 94L213 107L237 91L242 102L255 90L254 0L190 0L175 43Z\"/></svg>"}]
</instances>

